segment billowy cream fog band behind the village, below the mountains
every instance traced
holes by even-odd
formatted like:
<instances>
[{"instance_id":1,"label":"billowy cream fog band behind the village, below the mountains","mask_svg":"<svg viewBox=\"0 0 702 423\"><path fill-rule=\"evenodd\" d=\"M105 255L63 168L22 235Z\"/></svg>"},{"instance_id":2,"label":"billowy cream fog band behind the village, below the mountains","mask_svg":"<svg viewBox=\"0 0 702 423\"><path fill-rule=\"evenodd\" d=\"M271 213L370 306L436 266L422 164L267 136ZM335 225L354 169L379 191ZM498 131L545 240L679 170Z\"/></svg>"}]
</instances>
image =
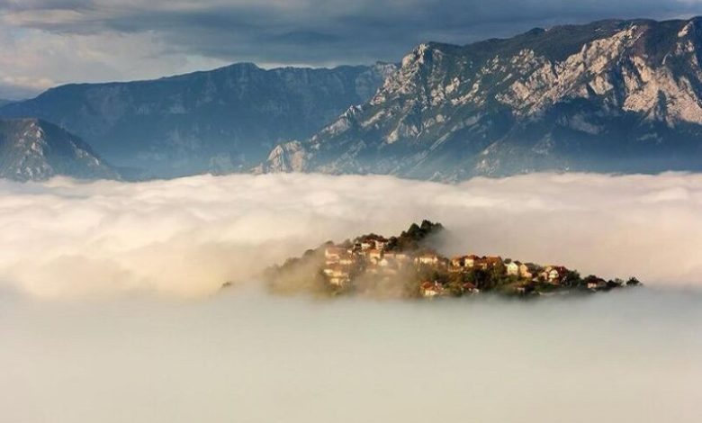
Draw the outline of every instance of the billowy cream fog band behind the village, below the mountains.
<instances>
[{"instance_id":1,"label":"billowy cream fog band behind the village, below the mountains","mask_svg":"<svg viewBox=\"0 0 702 423\"><path fill-rule=\"evenodd\" d=\"M433 184L387 176L194 176L139 184L0 182L0 283L44 297L202 296L328 239L452 232L443 253L582 275L702 284L702 175L524 175Z\"/></svg>"}]
</instances>

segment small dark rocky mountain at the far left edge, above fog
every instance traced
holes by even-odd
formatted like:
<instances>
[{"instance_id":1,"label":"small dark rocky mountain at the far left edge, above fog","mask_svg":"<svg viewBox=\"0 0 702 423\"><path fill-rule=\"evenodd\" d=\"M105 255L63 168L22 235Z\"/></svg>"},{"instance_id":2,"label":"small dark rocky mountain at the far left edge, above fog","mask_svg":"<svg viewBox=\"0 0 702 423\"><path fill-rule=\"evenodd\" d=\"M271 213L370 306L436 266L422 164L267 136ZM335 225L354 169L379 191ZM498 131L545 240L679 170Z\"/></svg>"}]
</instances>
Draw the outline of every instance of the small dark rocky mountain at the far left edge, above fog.
<instances>
[{"instance_id":1,"label":"small dark rocky mountain at the far left edge, above fog","mask_svg":"<svg viewBox=\"0 0 702 423\"><path fill-rule=\"evenodd\" d=\"M38 119L0 120L0 177L41 181L55 175L119 177L82 140L55 125Z\"/></svg>"}]
</instances>

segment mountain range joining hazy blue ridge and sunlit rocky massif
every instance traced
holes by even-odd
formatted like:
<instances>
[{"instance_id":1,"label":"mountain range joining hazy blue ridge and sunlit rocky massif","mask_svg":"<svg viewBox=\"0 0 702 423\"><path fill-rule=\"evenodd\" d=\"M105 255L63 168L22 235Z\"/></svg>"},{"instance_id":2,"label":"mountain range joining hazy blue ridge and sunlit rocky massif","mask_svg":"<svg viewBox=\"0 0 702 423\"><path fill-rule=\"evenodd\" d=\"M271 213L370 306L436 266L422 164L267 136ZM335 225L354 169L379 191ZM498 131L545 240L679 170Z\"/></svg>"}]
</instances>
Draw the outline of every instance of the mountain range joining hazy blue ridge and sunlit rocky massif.
<instances>
[{"instance_id":1,"label":"mountain range joining hazy blue ridge and sunlit rocky massif","mask_svg":"<svg viewBox=\"0 0 702 423\"><path fill-rule=\"evenodd\" d=\"M57 124L127 178L702 170L700 59L702 18L608 20L428 42L398 65L64 85L0 117Z\"/></svg>"}]
</instances>

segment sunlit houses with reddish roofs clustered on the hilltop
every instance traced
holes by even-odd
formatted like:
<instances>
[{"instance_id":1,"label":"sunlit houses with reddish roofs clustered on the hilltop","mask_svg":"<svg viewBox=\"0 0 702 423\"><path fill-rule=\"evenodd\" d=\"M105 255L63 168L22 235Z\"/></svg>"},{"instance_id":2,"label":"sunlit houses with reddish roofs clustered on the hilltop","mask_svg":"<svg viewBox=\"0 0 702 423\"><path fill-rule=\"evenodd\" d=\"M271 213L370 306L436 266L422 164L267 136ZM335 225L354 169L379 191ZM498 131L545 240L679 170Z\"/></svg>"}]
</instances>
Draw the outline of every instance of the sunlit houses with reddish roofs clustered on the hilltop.
<instances>
[{"instance_id":1,"label":"sunlit houses with reddish roofs clustered on the hilltop","mask_svg":"<svg viewBox=\"0 0 702 423\"><path fill-rule=\"evenodd\" d=\"M500 275L514 276L518 279L517 290L526 290L529 284L547 283L560 285L569 274L563 266L538 266L522 263L502 257L479 257L475 255L447 259L435 252L413 254L388 250L388 239L374 236L356 239L347 245L329 245L324 250L325 266L323 274L329 284L343 287L359 275L374 275L389 278L398 275L403 269L432 267L437 271L451 274L465 274L473 270L494 272ZM588 288L600 289L607 283L601 279L587 281ZM465 283L464 293L478 293L472 283ZM446 295L447 290L437 281L424 281L420 284L420 293L425 297Z\"/></svg>"}]
</instances>

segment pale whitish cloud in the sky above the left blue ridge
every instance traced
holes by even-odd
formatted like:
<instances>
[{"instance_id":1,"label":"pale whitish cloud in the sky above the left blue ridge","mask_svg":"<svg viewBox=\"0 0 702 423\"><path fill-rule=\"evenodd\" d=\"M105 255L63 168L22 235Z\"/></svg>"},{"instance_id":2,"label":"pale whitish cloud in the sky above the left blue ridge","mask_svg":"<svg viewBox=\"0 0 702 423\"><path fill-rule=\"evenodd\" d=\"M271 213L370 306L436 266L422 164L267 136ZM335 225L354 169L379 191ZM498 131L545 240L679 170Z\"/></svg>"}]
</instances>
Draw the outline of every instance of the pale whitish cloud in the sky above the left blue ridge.
<instances>
[{"instance_id":1,"label":"pale whitish cloud in the sky above the left blue ridge","mask_svg":"<svg viewBox=\"0 0 702 423\"><path fill-rule=\"evenodd\" d=\"M51 33L0 28L0 96L21 99L69 82L157 78L220 67L226 62L169 54L153 31Z\"/></svg>"}]
</instances>

